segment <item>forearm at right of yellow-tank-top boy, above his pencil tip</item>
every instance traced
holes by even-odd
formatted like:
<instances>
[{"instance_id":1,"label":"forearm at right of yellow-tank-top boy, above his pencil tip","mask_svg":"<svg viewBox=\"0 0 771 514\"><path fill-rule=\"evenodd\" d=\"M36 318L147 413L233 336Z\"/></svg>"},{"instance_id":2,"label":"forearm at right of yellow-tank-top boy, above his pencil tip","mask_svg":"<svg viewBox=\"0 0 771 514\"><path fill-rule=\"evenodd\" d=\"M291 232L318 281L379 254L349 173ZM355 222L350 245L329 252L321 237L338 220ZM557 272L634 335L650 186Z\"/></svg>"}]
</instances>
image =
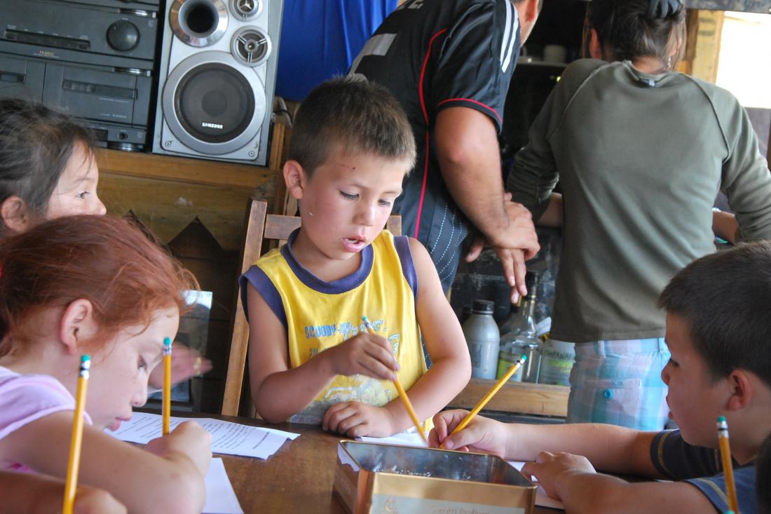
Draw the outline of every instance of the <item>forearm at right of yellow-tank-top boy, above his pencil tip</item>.
<instances>
[{"instance_id":1,"label":"forearm at right of yellow-tank-top boy, above his pencil tip","mask_svg":"<svg viewBox=\"0 0 771 514\"><path fill-rule=\"evenodd\" d=\"M418 419L429 419L446 407L449 401L466 387L470 377L469 360L462 356L444 357L434 361L431 369L406 391ZM391 411L396 431L405 431L412 427L412 419L399 398L389 403L386 408Z\"/></svg>"}]
</instances>

